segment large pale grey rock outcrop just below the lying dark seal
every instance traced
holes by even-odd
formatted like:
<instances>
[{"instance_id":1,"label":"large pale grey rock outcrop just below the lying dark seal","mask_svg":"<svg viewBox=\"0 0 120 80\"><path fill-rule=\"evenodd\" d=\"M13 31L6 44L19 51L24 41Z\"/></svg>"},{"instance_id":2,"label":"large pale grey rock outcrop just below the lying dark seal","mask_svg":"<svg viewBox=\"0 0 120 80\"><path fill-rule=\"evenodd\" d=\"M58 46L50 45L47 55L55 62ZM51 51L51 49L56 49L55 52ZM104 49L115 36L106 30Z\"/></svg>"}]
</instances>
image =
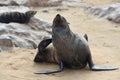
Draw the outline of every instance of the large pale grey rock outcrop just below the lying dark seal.
<instances>
[{"instance_id":1,"label":"large pale grey rock outcrop just below the lying dark seal","mask_svg":"<svg viewBox=\"0 0 120 80\"><path fill-rule=\"evenodd\" d=\"M14 11L17 10L14 8ZM12 11L10 10L10 12ZM8 50L9 46L9 49L14 47L35 49L44 37L51 36L51 26L51 23L36 17L31 17L28 23L21 24L19 22L11 22L11 20L9 23L0 23L0 50Z\"/></svg>"}]
</instances>

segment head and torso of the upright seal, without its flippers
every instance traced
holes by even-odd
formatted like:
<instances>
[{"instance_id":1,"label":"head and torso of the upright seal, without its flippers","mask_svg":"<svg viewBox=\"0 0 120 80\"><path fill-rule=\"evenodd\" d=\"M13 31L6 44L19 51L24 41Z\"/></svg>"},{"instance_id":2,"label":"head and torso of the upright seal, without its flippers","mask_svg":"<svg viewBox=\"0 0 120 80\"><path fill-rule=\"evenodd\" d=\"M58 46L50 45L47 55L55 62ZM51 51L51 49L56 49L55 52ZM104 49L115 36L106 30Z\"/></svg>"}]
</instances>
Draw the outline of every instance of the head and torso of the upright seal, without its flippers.
<instances>
[{"instance_id":1,"label":"head and torso of the upright seal, without its flippers","mask_svg":"<svg viewBox=\"0 0 120 80\"><path fill-rule=\"evenodd\" d=\"M87 40L81 35L74 34L64 18L59 15L56 18L53 21L52 39L57 54L67 67L85 67L88 55L90 55ZM59 19L63 20L62 25L58 22Z\"/></svg>"}]
</instances>

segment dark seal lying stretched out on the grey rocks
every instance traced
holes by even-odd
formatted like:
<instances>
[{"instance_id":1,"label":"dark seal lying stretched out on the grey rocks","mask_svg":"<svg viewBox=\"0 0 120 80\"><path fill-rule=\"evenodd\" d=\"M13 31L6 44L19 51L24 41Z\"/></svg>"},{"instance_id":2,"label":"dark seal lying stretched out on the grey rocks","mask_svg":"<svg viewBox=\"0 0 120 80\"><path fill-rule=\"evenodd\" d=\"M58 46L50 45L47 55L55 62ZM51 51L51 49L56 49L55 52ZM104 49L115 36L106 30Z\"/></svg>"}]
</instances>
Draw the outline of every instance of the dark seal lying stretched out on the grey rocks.
<instances>
[{"instance_id":1,"label":"dark seal lying stretched out on the grey rocks","mask_svg":"<svg viewBox=\"0 0 120 80\"><path fill-rule=\"evenodd\" d=\"M6 12L0 14L1 23L28 23L30 18L36 14L36 11L27 11L25 13L21 12Z\"/></svg>"}]
</instances>

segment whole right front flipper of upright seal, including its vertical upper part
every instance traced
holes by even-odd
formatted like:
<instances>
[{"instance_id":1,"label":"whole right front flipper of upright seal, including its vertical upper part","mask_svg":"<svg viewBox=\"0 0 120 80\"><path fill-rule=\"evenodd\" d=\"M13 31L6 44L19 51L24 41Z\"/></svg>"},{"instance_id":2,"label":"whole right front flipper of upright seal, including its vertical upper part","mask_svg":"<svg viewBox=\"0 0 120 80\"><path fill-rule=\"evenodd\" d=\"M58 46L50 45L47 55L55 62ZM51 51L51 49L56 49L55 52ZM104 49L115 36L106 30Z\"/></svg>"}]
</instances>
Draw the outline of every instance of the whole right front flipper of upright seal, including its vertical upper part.
<instances>
[{"instance_id":1,"label":"whole right front flipper of upright seal, including its vertical upper part","mask_svg":"<svg viewBox=\"0 0 120 80\"><path fill-rule=\"evenodd\" d=\"M112 67L112 66L96 66L96 65L94 65L91 54L89 54L89 56L88 56L88 64L89 64L90 70L92 70L92 71L110 71L110 70L118 69L117 67Z\"/></svg>"}]
</instances>

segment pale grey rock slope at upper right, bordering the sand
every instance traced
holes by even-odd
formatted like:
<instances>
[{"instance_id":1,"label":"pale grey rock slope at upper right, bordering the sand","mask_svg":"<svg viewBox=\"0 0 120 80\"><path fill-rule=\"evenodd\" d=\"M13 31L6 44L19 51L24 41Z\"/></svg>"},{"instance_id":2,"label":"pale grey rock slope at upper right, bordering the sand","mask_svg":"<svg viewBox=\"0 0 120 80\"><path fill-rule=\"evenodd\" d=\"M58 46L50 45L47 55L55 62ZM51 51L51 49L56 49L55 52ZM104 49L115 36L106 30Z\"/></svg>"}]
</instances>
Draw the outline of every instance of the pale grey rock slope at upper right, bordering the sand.
<instances>
[{"instance_id":1,"label":"pale grey rock slope at upper right, bordering the sand","mask_svg":"<svg viewBox=\"0 0 120 80\"><path fill-rule=\"evenodd\" d=\"M100 18L120 23L120 3L106 6L89 6L85 8L85 11L97 15Z\"/></svg>"}]
</instances>

